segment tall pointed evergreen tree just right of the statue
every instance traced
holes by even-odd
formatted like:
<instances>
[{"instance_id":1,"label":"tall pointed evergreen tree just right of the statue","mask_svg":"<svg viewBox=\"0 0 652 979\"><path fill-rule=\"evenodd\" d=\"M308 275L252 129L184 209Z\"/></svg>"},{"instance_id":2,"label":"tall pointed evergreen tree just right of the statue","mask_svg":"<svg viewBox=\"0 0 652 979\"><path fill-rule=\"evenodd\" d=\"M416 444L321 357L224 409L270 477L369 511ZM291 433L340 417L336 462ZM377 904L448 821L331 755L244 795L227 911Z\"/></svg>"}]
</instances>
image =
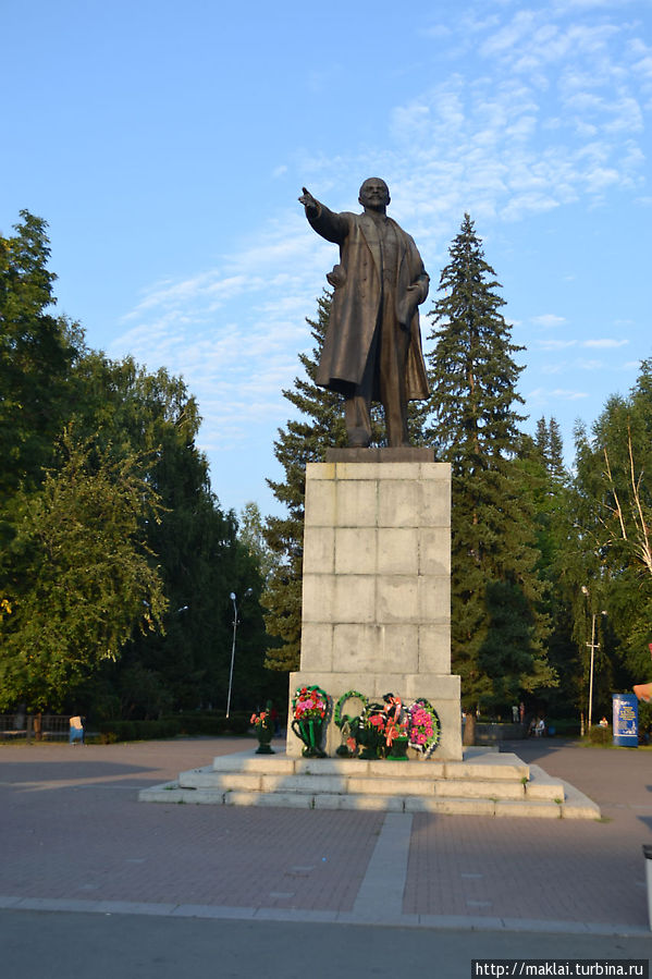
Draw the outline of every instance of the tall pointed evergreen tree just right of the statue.
<instances>
[{"instance_id":1,"label":"tall pointed evergreen tree just right of the statue","mask_svg":"<svg viewBox=\"0 0 652 979\"><path fill-rule=\"evenodd\" d=\"M512 343L500 283L468 215L450 254L430 314L425 436L453 469L452 654L463 700L504 705L554 682L542 645L531 490L515 458L521 347Z\"/></svg>"}]
</instances>

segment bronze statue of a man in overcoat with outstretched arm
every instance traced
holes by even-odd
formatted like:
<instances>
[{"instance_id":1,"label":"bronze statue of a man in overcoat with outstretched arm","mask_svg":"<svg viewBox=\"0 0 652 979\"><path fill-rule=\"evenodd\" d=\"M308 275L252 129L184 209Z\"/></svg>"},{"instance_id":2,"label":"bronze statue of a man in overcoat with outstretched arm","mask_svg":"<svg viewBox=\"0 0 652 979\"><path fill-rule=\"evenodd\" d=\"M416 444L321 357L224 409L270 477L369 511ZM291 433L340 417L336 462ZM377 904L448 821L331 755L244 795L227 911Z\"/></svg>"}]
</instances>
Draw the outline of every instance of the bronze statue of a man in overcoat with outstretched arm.
<instances>
[{"instance_id":1,"label":"bronze statue of a man in overcoat with outstretched arm","mask_svg":"<svg viewBox=\"0 0 652 979\"><path fill-rule=\"evenodd\" d=\"M418 307L430 279L413 238L386 216L385 182L366 180L358 200L364 213L336 215L305 187L299 197L315 231L340 245L317 383L344 395L352 448L369 445L372 401L383 406L389 444L408 445L407 402L429 394Z\"/></svg>"}]
</instances>

